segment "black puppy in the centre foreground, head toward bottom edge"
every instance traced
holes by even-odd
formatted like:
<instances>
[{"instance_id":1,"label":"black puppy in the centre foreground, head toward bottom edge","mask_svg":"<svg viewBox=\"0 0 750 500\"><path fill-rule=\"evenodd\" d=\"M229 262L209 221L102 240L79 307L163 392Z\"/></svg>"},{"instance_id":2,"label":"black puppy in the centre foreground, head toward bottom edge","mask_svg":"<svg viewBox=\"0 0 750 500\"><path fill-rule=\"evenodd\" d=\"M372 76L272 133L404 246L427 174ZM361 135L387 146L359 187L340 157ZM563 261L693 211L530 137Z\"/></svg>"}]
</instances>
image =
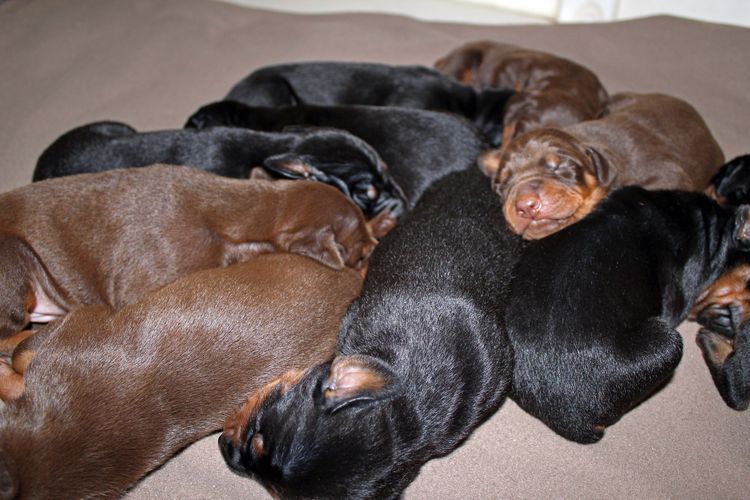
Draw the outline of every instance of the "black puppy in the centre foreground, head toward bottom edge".
<instances>
[{"instance_id":1,"label":"black puppy in the centre foreground, head toward bottom edge","mask_svg":"<svg viewBox=\"0 0 750 500\"><path fill-rule=\"evenodd\" d=\"M476 168L428 190L374 252L333 361L281 377L228 419L230 468L282 498L396 497L495 411L522 244L499 206Z\"/></svg>"}]
</instances>

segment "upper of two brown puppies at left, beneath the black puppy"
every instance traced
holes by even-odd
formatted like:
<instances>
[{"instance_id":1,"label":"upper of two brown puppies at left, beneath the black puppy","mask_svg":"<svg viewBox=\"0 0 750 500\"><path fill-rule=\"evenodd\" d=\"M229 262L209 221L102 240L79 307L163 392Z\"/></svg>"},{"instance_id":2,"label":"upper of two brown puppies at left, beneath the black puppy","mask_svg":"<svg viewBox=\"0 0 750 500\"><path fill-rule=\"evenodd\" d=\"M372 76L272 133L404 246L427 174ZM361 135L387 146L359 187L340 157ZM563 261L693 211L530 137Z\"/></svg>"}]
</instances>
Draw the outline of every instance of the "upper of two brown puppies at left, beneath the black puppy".
<instances>
[{"instance_id":1,"label":"upper of two brown puppies at left, beneath the black puppy","mask_svg":"<svg viewBox=\"0 0 750 500\"><path fill-rule=\"evenodd\" d=\"M167 165L50 179L0 195L0 337L258 253L363 270L374 243L351 200L312 181Z\"/></svg>"}]
</instances>

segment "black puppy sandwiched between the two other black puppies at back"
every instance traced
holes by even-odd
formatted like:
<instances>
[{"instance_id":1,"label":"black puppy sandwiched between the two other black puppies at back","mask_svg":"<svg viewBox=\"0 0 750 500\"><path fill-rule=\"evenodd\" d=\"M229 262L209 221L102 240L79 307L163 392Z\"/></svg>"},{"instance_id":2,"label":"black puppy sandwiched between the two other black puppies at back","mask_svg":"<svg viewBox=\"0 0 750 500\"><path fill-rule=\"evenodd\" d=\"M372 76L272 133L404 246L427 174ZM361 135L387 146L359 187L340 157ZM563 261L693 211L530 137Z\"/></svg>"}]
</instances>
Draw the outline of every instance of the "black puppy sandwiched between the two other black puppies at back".
<instances>
[{"instance_id":1,"label":"black puppy sandwiched between the two other black puppies at back","mask_svg":"<svg viewBox=\"0 0 750 500\"><path fill-rule=\"evenodd\" d=\"M370 144L383 158L411 210L425 189L444 175L473 168L488 145L466 120L418 109L375 106L249 107L233 101L203 106L188 128L214 126L292 130L297 126L346 130Z\"/></svg>"}]
</instances>

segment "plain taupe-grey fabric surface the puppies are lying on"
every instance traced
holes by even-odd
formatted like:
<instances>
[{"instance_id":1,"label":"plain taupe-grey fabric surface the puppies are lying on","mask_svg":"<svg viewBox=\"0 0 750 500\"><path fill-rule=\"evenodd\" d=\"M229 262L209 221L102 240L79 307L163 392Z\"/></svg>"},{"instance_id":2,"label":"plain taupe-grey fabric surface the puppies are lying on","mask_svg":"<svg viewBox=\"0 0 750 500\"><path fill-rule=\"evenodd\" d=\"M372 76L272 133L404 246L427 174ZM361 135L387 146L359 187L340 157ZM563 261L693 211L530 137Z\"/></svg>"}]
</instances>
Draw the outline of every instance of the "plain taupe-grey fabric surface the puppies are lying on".
<instances>
[{"instance_id":1,"label":"plain taupe-grey fabric surface the puppies are lying on","mask_svg":"<svg viewBox=\"0 0 750 500\"><path fill-rule=\"evenodd\" d=\"M9 0L0 4L0 190L28 183L42 149L74 126L112 119L139 130L179 128L266 64L431 65L478 39L570 57L610 92L686 99L727 158L748 151L748 29L671 17L504 27L295 16L207 0ZM695 325L681 332L685 354L673 380L600 443L565 441L508 401L464 446L428 463L406 498L747 498L750 413L720 399L695 345ZM265 496L224 467L211 436L128 498Z\"/></svg>"}]
</instances>

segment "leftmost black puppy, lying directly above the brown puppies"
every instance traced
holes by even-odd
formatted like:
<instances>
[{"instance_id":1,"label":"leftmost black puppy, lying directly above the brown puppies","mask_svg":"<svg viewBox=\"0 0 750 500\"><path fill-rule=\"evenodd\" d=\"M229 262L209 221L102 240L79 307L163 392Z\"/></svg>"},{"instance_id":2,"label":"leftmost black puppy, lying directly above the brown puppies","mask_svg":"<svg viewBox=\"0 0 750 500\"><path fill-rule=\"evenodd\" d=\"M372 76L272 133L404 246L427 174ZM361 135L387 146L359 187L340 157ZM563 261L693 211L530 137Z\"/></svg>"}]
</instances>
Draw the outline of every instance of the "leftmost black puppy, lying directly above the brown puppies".
<instances>
[{"instance_id":1,"label":"leftmost black puppy, lying directly above the brown puppies","mask_svg":"<svg viewBox=\"0 0 750 500\"><path fill-rule=\"evenodd\" d=\"M404 209L403 195L375 150L338 130L271 134L217 127L139 133L125 123L95 122L66 132L47 147L33 179L154 163L188 165L240 179L257 175L254 167L263 167L273 177L319 180L350 197L368 219L386 212L395 221Z\"/></svg>"}]
</instances>

